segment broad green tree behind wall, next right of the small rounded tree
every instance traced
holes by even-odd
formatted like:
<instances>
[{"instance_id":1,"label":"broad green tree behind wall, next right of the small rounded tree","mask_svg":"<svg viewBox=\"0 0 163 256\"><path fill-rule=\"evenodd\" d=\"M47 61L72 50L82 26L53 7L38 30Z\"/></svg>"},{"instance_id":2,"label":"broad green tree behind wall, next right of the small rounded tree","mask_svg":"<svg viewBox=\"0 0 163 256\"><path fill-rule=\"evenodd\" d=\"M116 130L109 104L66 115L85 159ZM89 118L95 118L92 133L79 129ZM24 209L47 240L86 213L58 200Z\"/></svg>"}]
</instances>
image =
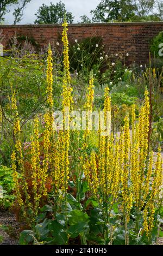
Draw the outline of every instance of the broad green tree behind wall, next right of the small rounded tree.
<instances>
[{"instance_id":1,"label":"broad green tree behind wall, next right of the small rounded tree","mask_svg":"<svg viewBox=\"0 0 163 256\"><path fill-rule=\"evenodd\" d=\"M126 21L134 16L134 5L131 0L102 0L91 14L93 22Z\"/></svg>"}]
</instances>

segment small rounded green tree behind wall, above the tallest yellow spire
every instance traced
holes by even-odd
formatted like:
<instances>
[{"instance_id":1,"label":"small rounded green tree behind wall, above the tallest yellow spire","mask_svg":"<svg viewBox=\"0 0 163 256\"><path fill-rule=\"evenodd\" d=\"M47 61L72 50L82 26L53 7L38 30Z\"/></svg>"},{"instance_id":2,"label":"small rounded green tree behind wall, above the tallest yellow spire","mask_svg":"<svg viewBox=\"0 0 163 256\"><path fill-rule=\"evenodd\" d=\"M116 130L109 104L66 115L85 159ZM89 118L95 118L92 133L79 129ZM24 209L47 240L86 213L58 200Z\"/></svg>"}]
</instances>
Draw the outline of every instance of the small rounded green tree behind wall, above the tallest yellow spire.
<instances>
[{"instance_id":1,"label":"small rounded green tree behind wall, above the tallest yellow spire","mask_svg":"<svg viewBox=\"0 0 163 256\"><path fill-rule=\"evenodd\" d=\"M65 4L61 1L57 4L51 2L49 6L42 4L35 14L37 17L35 24L62 23L65 15L67 22L72 23L74 17L72 16L72 13L66 11Z\"/></svg>"}]
</instances>

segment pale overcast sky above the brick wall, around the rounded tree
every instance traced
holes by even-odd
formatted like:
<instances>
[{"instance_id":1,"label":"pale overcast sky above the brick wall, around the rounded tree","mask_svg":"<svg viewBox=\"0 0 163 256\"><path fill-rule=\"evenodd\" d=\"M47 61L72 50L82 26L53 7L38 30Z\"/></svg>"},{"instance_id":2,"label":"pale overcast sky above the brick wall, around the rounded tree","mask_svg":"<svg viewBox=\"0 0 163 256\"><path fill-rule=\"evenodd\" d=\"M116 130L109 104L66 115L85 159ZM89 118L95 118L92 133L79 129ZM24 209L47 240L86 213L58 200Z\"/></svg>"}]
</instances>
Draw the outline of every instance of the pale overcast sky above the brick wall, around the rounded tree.
<instances>
[{"instance_id":1,"label":"pale overcast sky above the brick wall, around the rounded tree","mask_svg":"<svg viewBox=\"0 0 163 256\"><path fill-rule=\"evenodd\" d=\"M24 10L23 20L19 24L29 24L34 23L36 16L34 15L39 9L40 5L43 3L49 5L50 3L56 4L59 0L32 0ZM93 10L97 7L99 0L62 0L61 2L65 3L67 11L71 11L74 16L74 23L80 21L80 16L85 14L88 17L91 17L90 10ZM10 13L5 15L5 24L12 24L14 19L12 16L12 10Z\"/></svg>"}]
</instances>

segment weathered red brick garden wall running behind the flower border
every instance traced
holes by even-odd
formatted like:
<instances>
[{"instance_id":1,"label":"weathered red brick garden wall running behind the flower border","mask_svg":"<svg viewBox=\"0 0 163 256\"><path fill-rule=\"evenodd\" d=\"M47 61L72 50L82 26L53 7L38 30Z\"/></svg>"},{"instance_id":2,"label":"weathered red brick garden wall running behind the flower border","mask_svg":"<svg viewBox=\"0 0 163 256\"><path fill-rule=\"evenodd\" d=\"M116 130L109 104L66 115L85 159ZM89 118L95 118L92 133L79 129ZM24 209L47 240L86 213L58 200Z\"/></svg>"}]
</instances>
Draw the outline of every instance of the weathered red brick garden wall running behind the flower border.
<instances>
[{"instance_id":1,"label":"weathered red brick garden wall running behind the flower border","mask_svg":"<svg viewBox=\"0 0 163 256\"><path fill-rule=\"evenodd\" d=\"M5 35L4 46L15 32L35 38L41 47L49 42L61 41L61 25L4 25L0 29ZM163 22L72 24L68 27L68 38L80 40L93 35L101 36L106 51L126 51L129 53L128 63L139 64L147 62L151 39L160 31L163 31Z\"/></svg>"}]
</instances>

